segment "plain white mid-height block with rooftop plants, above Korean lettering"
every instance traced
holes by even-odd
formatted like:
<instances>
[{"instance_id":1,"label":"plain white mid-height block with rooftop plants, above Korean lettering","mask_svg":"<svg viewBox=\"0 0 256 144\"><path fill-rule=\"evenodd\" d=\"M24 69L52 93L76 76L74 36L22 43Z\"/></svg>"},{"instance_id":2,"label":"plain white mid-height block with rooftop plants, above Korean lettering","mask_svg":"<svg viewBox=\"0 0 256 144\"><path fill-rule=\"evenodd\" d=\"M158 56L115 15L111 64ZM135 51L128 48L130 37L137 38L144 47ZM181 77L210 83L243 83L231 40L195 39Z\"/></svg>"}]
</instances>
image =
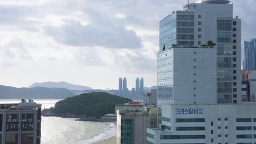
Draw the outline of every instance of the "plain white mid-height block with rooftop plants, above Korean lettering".
<instances>
[{"instance_id":1,"label":"plain white mid-height block with rooftop plants, above Korean lettering","mask_svg":"<svg viewBox=\"0 0 256 144\"><path fill-rule=\"evenodd\" d=\"M216 104L216 49L171 48L158 54L158 86L170 86L159 103ZM159 92L161 93L161 91Z\"/></svg>"}]
</instances>

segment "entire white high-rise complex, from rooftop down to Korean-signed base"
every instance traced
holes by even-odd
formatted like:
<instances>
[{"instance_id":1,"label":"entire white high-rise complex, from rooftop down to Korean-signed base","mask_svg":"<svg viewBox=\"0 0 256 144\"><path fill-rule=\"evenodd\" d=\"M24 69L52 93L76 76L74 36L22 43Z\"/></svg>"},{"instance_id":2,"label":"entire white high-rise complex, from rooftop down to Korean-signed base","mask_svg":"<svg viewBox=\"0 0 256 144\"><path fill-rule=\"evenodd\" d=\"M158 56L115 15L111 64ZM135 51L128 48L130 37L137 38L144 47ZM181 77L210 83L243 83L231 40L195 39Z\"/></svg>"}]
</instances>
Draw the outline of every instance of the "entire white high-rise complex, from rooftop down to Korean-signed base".
<instances>
[{"instance_id":1,"label":"entire white high-rise complex, from rooftop down to Korean-signed base","mask_svg":"<svg viewBox=\"0 0 256 144\"><path fill-rule=\"evenodd\" d=\"M148 143L255 142L256 104L241 103L241 20L229 3L190 3L160 21L160 125Z\"/></svg>"}]
</instances>

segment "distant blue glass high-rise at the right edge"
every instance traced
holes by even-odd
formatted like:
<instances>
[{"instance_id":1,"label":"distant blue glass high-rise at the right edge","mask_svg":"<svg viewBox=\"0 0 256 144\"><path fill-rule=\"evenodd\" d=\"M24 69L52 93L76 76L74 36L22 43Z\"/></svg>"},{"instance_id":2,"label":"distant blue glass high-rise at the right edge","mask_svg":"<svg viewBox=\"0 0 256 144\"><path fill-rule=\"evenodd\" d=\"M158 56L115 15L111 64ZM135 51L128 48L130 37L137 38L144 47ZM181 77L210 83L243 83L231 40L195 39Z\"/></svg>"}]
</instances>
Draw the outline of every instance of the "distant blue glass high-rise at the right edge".
<instances>
[{"instance_id":1,"label":"distant blue glass high-rise at the right edge","mask_svg":"<svg viewBox=\"0 0 256 144\"><path fill-rule=\"evenodd\" d=\"M256 39L245 41L245 70L256 69Z\"/></svg>"}]
</instances>

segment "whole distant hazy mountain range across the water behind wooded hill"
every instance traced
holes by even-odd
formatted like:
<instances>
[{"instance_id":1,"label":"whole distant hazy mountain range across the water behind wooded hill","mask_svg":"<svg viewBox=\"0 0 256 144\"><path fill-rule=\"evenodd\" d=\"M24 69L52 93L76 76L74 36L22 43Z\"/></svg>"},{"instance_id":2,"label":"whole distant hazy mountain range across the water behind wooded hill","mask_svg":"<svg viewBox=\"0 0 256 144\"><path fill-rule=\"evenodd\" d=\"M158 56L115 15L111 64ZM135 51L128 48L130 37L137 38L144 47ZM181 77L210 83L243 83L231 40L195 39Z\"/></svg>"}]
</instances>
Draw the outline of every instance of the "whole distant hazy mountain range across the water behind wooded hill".
<instances>
[{"instance_id":1,"label":"whole distant hazy mountain range across the water behind wooded hill","mask_svg":"<svg viewBox=\"0 0 256 144\"><path fill-rule=\"evenodd\" d=\"M150 93L153 87L145 87L144 92ZM86 86L73 85L67 82L42 82L33 83L28 88L16 88L0 85L0 99L65 99L82 93L107 92L118 95L118 90L106 91L92 89Z\"/></svg>"}]
</instances>

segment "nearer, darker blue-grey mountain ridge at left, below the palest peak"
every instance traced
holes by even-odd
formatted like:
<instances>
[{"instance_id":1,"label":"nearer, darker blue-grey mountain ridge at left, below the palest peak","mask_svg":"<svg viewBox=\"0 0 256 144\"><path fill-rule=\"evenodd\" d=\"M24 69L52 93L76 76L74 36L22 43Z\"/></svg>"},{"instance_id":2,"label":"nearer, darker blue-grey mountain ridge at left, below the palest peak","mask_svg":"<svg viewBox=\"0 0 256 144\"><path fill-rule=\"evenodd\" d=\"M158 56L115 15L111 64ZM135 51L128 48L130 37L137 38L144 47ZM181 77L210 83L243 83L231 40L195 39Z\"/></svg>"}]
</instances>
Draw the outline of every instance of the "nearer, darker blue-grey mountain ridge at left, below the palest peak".
<instances>
[{"instance_id":1,"label":"nearer, darker blue-grey mountain ridge at left, below the palest peak","mask_svg":"<svg viewBox=\"0 0 256 144\"><path fill-rule=\"evenodd\" d=\"M74 95L65 88L16 88L0 85L0 99L65 99Z\"/></svg>"}]
</instances>

